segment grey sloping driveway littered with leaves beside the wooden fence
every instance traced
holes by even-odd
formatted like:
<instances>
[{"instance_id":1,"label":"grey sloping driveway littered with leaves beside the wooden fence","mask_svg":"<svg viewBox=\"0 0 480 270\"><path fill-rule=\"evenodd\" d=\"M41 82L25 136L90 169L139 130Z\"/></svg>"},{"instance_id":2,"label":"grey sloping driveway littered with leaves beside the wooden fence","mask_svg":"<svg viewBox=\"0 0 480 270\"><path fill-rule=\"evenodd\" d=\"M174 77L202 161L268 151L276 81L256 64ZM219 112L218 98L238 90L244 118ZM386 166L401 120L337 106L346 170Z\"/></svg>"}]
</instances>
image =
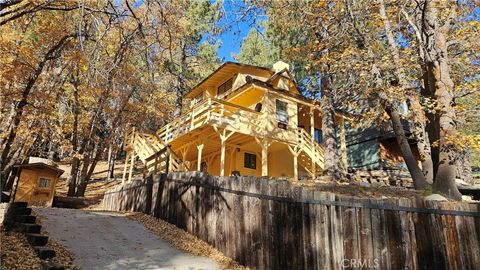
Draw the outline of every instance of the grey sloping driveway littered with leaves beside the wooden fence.
<instances>
[{"instance_id":1,"label":"grey sloping driveway littered with leaves beside the wooden fence","mask_svg":"<svg viewBox=\"0 0 480 270\"><path fill-rule=\"evenodd\" d=\"M49 236L73 252L81 269L218 269L214 261L172 247L120 213L34 211Z\"/></svg>"}]
</instances>

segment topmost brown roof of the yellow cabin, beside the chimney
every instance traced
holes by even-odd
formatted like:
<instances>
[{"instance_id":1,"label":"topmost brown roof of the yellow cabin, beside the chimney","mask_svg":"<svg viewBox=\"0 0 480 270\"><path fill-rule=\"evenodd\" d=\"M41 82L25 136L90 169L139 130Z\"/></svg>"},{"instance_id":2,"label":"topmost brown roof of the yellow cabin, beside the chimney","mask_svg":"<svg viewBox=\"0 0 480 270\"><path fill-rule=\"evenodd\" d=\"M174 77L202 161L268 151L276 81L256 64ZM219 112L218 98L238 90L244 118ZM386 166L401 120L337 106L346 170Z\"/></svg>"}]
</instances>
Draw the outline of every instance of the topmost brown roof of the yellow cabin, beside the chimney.
<instances>
[{"instance_id":1,"label":"topmost brown roof of the yellow cabin, beside the chimney","mask_svg":"<svg viewBox=\"0 0 480 270\"><path fill-rule=\"evenodd\" d=\"M247 65L247 64L241 64L236 62L225 62L223 65L217 68L214 72L212 72L212 74L208 75L199 84L197 84L188 93L186 93L185 97L187 98L194 97L195 95L201 92L201 89L205 87L213 87L223 83L225 80L228 79L226 75L237 73L241 68L260 69L260 70L268 71L270 75L275 73L272 69L266 68L266 67Z\"/></svg>"}]
</instances>

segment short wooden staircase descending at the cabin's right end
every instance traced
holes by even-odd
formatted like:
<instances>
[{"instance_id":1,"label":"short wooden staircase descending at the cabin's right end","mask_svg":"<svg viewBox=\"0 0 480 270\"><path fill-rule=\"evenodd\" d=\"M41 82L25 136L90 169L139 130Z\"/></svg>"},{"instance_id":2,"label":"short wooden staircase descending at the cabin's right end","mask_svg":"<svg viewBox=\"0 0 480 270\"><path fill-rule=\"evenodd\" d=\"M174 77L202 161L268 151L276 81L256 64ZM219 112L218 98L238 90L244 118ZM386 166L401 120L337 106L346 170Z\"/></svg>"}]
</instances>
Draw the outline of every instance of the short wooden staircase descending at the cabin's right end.
<instances>
[{"instance_id":1,"label":"short wooden staircase descending at the cabin's right end","mask_svg":"<svg viewBox=\"0 0 480 270\"><path fill-rule=\"evenodd\" d=\"M298 146L300 154L298 164L314 177L323 171L323 148L303 128L298 128Z\"/></svg>"}]
</instances>

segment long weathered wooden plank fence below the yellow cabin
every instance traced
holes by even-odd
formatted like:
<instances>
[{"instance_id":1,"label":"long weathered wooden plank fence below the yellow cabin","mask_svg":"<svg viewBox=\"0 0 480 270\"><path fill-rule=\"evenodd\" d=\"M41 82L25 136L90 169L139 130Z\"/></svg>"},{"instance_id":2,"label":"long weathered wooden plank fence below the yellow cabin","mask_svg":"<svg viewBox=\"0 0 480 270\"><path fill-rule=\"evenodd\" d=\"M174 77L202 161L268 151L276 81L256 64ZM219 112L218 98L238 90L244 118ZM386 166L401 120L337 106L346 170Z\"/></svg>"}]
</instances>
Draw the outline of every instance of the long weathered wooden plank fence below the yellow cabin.
<instances>
[{"instance_id":1,"label":"long weathered wooden plank fence below the yellow cabin","mask_svg":"<svg viewBox=\"0 0 480 270\"><path fill-rule=\"evenodd\" d=\"M254 269L479 269L478 204L360 199L255 177L155 175L105 194Z\"/></svg>"}]
</instances>

